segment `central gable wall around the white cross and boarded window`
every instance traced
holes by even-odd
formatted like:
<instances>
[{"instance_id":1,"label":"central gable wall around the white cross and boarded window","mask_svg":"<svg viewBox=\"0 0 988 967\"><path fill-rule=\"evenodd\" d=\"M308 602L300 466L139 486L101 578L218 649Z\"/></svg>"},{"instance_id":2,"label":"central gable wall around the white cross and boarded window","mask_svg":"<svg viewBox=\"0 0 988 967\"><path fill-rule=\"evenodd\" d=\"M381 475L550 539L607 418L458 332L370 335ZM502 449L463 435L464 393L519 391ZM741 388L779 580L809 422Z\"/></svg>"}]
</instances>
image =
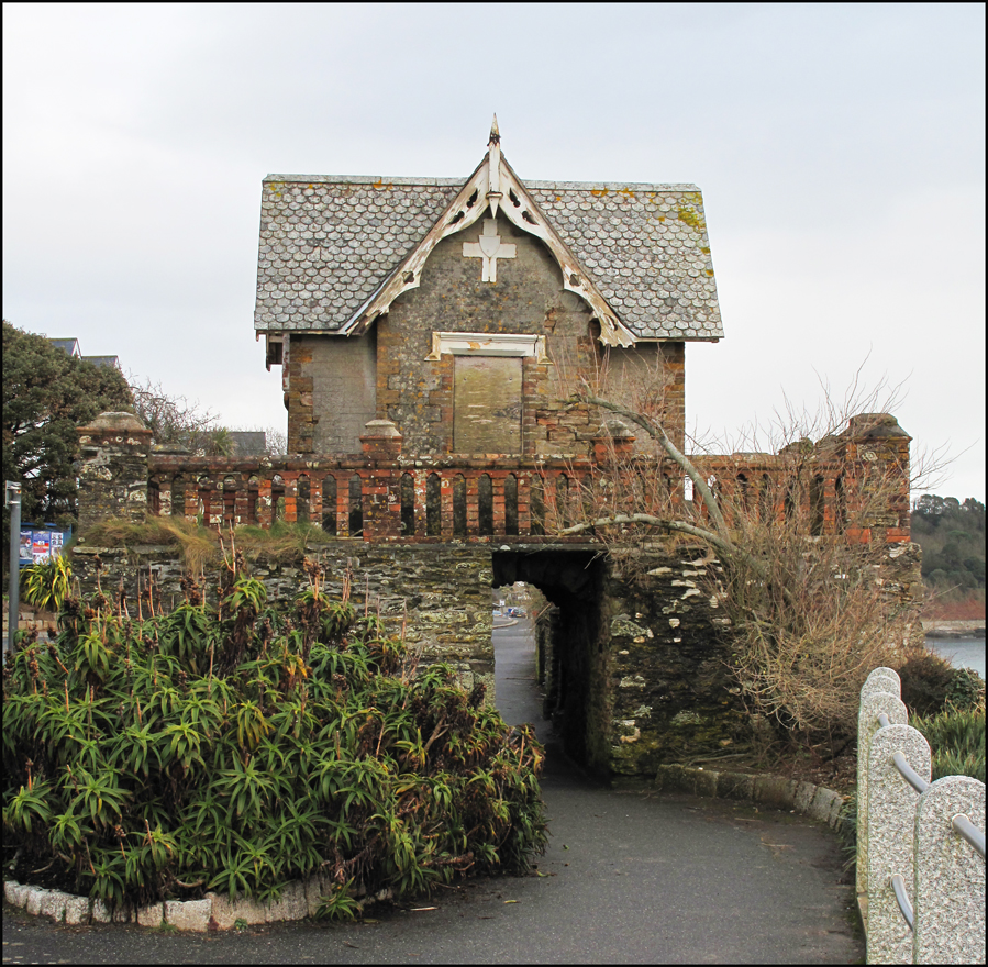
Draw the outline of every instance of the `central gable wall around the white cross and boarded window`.
<instances>
[{"instance_id":1,"label":"central gable wall around the white cross and boarded window","mask_svg":"<svg viewBox=\"0 0 988 967\"><path fill-rule=\"evenodd\" d=\"M587 454L599 418L585 408L568 410L559 399L567 374L592 371L599 364L590 309L563 290L558 265L542 242L503 218L498 233L502 244L515 246L515 257L498 259L497 282L481 281L480 259L463 256L464 242L475 242L481 229L482 220L441 242L419 288L400 296L375 323L378 416L398 424L406 453L452 453L455 357L425 358L433 332L545 336L553 365L522 360L522 453ZM681 343L670 345L679 346L678 355L675 349L667 354L670 378L681 386ZM619 355L648 359L653 369L660 356L655 344Z\"/></svg>"}]
</instances>

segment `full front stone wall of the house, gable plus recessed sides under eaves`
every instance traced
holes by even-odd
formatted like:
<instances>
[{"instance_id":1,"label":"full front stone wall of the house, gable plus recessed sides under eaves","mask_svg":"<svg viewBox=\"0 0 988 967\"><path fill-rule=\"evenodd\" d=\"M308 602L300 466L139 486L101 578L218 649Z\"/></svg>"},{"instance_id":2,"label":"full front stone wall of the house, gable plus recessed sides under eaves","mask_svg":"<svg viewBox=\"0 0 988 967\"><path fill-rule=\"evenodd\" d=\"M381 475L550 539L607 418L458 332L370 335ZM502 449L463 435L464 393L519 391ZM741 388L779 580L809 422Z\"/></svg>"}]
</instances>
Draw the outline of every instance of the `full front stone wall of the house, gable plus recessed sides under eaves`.
<instances>
[{"instance_id":1,"label":"full front stone wall of the house, gable plus recessed sides under eaves","mask_svg":"<svg viewBox=\"0 0 988 967\"><path fill-rule=\"evenodd\" d=\"M524 455L589 453L599 416L591 418L584 407L568 407L562 398L569 392L566 377L598 370L604 356L618 396L625 373L646 375L656 385L668 408L670 435L681 443L684 344L643 343L606 351L589 307L563 290L559 267L542 242L506 219L498 220L497 227L503 243L514 245L515 257L498 260L496 284L481 281L479 259L464 258L465 240L457 234L436 246L420 286L378 318L376 338L286 336L290 453L355 453L359 418L374 415L396 423L407 453L453 453L455 357L444 353L439 359L426 358L435 332L545 338L552 362L522 358ZM369 386L375 366L376 388Z\"/></svg>"}]
</instances>

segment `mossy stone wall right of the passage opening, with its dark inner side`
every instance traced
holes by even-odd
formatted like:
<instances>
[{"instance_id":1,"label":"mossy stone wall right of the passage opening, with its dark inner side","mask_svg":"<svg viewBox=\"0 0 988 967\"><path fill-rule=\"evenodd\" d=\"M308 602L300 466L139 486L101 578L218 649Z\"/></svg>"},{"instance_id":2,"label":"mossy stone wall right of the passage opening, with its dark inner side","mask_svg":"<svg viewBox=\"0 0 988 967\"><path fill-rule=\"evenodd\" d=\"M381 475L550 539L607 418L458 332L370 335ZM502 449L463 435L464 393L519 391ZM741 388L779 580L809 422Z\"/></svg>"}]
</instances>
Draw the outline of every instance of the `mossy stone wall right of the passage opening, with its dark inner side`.
<instances>
[{"instance_id":1,"label":"mossy stone wall right of the passage opening, with its dark inner side","mask_svg":"<svg viewBox=\"0 0 988 967\"><path fill-rule=\"evenodd\" d=\"M717 569L701 547L609 557L593 593L537 629L545 714L568 754L609 777L744 743L750 720L728 670L728 621L700 590Z\"/></svg>"}]
</instances>

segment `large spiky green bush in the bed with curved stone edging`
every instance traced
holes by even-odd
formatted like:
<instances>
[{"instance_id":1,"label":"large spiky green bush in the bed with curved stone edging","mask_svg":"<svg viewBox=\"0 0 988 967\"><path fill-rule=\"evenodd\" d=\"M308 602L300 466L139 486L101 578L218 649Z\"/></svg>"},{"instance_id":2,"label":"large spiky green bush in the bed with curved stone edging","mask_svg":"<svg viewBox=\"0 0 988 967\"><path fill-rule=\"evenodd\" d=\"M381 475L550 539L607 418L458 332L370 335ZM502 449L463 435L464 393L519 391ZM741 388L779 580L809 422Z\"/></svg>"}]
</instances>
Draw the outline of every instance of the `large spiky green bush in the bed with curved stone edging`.
<instances>
[{"instance_id":1,"label":"large spiky green bush in the bed with curved stone edging","mask_svg":"<svg viewBox=\"0 0 988 967\"><path fill-rule=\"evenodd\" d=\"M219 607L69 598L3 669L4 865L111 904L268 899L317 870L355 896L521 872L543 849L543 751L374 615L310 587L269 604L240 552ZM348 582L344 581L344 589Z\"/></svg>"}]
</instances>

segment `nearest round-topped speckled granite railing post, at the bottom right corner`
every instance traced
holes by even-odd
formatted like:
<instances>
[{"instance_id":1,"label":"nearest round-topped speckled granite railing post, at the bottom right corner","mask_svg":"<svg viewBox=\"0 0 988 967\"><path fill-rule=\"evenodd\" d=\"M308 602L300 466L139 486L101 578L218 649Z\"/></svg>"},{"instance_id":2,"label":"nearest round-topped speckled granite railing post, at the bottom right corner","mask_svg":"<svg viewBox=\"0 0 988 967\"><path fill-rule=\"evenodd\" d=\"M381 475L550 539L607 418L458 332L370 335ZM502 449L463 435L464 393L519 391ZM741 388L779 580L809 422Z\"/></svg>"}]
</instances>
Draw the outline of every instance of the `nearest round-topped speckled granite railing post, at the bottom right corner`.
<instances>
[{"instance_id":1,"label":"nearest round-topped speckled granite railing post, at the bottom right corner","mask_svg":"<svg viewBox=\"0 0 988 967\"><path fill-rule=\"evenodd\" d=\"M915 964L985 963L985 860L954 831L956 815L985 829L984 782L944 776L919 798Z\"/></svg>"}]
</instances>

